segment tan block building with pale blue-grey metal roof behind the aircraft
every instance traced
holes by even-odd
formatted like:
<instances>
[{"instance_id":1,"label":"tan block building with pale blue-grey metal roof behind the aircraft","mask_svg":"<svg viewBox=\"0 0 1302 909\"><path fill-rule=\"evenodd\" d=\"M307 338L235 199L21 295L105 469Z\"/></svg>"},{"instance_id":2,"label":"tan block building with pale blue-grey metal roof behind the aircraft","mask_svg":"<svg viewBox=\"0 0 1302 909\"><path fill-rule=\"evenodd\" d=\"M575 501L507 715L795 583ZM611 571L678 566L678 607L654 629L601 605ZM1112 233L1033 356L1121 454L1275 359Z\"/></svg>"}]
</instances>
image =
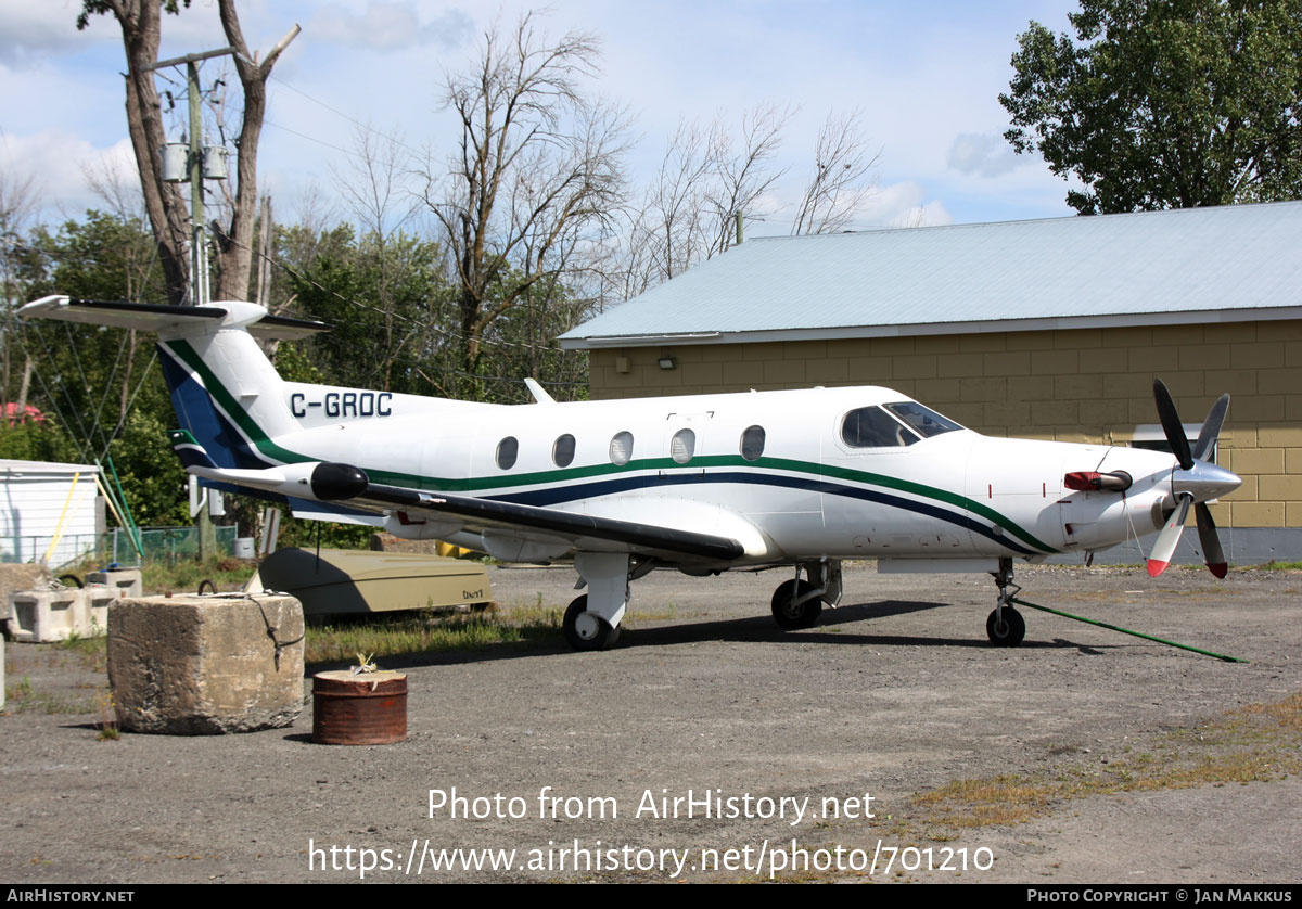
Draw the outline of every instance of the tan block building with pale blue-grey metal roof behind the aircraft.
<instances>
[{"instance_id":1,"label":"tan block building with pale blue-grey metal roof behind the aircraft","mask_svg":"<svg viewBox=\"0 0 1302 909\"><path fill-rule=\"evenodd\" d=\"M594 399L874 384L1032 439L1161 439L1154 376L1197 436L1229 392L1216 460L1243 486L1213 514L1232 560L1292 561L1299 240L1302 202L758 238L560 341Z\"/></svg>"}]
</instances>

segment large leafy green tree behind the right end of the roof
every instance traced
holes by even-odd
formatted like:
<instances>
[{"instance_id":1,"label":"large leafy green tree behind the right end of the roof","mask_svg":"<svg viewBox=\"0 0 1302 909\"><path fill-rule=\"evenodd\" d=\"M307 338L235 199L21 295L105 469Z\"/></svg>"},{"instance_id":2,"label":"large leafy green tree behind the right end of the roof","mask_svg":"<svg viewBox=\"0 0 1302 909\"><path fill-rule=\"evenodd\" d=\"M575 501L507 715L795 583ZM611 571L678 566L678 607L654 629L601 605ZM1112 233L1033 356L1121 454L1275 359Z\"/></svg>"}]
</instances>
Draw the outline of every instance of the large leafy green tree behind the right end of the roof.
<instances>
[{"instance_id":1,"label":"large leafy green tree behind the right end of the roof","mask_svg":"<svg viewBox=\"0 0 1302 909\"><path fill-rule=\"evenodd\" d=\"M1302 197L1302 0L1082 0L1000 103L1083 215Z\"/></svg>"}]
</instances>

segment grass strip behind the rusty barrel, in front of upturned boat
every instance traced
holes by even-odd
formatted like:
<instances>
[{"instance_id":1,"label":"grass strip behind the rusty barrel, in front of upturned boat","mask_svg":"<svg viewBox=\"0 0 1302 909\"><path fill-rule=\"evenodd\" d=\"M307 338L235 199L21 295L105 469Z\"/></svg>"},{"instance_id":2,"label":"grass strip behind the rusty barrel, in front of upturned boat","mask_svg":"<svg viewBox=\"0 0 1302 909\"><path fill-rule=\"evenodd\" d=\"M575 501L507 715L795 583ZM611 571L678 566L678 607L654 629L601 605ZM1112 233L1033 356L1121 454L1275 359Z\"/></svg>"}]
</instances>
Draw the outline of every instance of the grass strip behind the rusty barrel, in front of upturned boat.
<instances>
[{"instance_id":1,"label":"grass strip behind the rusty barrel, in front of upturned boat","mask_svg":"<svg viewBox=\"0 0 1302 909\"><path fill-rule=\"evenodd\" d=\"M307 628L307 663L354 662L358 654L385 656L448 650L482 650L500 645L553 643L560 637L559 609L526 607L504 619L495 613L440 616L418 612L359 622Z\"/></svg>"}]
</instances>

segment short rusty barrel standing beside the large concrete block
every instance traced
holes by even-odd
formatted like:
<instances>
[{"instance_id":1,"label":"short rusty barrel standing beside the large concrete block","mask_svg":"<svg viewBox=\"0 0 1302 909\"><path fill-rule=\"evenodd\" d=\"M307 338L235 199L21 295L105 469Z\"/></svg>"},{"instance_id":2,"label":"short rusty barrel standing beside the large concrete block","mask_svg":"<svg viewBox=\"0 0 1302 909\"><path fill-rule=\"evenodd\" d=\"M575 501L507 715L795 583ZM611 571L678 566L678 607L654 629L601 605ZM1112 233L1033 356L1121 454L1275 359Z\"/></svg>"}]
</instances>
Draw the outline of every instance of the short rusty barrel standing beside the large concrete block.
<instances>
[{"instance_id":1,"label":"short rusty barrel standing beside the large concrete block","mask_svg":"<svg viewBox=\"0 0 1302 909\"><path fill-rule=\"evenodd\" d=\"M312 741L388 745L406 738L406 673L348 669L312 676Z\"/></svg>"}]
</instances>

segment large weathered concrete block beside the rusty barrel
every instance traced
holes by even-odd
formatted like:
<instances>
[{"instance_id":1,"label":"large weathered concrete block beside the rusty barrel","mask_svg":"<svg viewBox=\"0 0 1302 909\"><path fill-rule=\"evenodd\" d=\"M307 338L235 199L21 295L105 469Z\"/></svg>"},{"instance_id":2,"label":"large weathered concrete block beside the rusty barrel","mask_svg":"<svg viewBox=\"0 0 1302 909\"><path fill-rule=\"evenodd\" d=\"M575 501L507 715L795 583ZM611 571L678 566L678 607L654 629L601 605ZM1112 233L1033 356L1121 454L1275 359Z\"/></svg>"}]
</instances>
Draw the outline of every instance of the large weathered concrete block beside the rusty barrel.
<instances>
[{"instance_id":1,"label":"large weathered concrete block beside the rusty barrel","mask_svg":"<svg viewBox=\"0 0 1302 909\"><path fill-rule=\"evenodd\" d=\"M290 725L303 706L302 638L293 596L116 600L108 680L118 723L182 736Z\"/></svg>"}]
</instances>

